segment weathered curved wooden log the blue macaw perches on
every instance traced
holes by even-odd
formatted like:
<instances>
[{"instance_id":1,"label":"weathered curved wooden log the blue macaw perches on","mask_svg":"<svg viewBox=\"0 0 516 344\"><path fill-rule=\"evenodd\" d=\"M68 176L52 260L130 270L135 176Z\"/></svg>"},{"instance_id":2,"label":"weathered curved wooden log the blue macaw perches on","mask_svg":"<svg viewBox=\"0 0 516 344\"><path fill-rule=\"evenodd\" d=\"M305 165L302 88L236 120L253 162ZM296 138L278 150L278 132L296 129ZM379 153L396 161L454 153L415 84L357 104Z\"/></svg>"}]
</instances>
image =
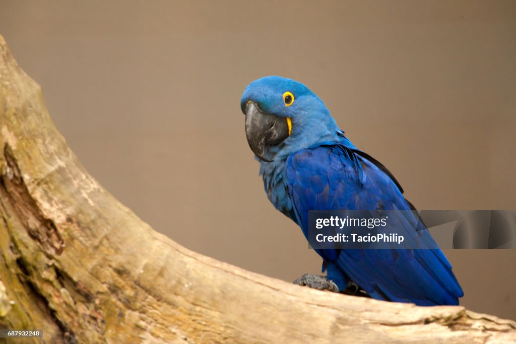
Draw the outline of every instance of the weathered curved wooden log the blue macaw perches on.
<instances>
[{"instance_id":1,"label":"weathered curved wooden log the blue macaw perches on","mask_svg":"<svg viewBox=\"0 0 516 344\"><path fill-rule=\"evenodd\" d=\"M27 342L513 342L516 324L299 287L191 252L79 163L0 36L0 326Z\"/></svg>"}]
</instances>

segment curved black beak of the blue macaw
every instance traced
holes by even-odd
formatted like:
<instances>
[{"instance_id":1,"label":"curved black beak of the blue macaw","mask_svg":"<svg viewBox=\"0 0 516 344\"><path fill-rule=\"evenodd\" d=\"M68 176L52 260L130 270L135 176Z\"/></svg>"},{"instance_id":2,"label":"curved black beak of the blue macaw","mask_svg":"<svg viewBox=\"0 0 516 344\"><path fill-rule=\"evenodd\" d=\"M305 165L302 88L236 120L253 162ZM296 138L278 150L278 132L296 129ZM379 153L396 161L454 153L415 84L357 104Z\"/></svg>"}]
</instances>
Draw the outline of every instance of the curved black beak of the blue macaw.
<instances>
[{"instance_id":1,"label":"curved black beak of the blue macaw","mask_svg":"<svg viewBox=\"0 0 516 344\"><path fill-rule=\"evenodd\" d=\"M265 158L266 146L274 146L288 137L286 118L265 114L252 101L245 109L246 136L249 147L260 160L271 162Z\"/></svg>"}]
</instances>

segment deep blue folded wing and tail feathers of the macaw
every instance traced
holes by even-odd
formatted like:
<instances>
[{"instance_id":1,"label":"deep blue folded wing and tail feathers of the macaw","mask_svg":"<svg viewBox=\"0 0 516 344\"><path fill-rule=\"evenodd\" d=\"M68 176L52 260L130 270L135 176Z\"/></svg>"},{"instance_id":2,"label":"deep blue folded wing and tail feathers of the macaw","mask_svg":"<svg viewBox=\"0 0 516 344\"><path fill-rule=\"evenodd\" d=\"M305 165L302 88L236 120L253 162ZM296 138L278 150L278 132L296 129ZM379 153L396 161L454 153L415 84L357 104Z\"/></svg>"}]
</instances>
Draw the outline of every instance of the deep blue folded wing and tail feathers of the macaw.
<instances>
[{"instance_id":1,"label":"deep blue folded wing and tail feathers of the macaw","mask_svg":"<svg viewBox=\"0 0 516 344\"><path fill-rule=\"evenodd\" d=\"M287 193L295 220L307 238L309 210L410 210L388 170L355 149L326 143L288 157ZM416 226L421 226L415 218L398 221L407 235L415 236ZM433 243L428 231L424 233L423 241ZM341 290L351 279L376 299L418 305L456 305L463 295L440 249L316 251L325 261L328 278Z\"/></svg>"}]
</instances>

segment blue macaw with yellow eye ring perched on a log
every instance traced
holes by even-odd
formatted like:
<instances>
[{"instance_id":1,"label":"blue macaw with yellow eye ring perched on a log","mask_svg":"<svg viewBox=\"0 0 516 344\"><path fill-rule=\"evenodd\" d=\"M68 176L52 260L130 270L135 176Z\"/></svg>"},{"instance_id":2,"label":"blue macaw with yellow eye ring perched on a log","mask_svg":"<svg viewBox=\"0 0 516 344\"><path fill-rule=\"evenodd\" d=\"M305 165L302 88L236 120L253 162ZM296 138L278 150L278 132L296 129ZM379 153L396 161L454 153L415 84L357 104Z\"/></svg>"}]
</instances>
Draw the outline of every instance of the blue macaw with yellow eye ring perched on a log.
<instances>
[{"instance_id":1,"label":"blue macaw with yellow eye ring perched on a log","mask_svg":"<svg viewBox=\"0 0 516 344\"><path fill-rule=\"evenodd\" d=\"M247 86L240 107L267 197L307 239L309 210L414 209L390 171L350 142L305 85L263 77ZM458 305L463 296L439 248L316 252L327 276L305 274L295 283L335 292L354 287L374 299L422 306Z\"/></svg>"}]
</instances>

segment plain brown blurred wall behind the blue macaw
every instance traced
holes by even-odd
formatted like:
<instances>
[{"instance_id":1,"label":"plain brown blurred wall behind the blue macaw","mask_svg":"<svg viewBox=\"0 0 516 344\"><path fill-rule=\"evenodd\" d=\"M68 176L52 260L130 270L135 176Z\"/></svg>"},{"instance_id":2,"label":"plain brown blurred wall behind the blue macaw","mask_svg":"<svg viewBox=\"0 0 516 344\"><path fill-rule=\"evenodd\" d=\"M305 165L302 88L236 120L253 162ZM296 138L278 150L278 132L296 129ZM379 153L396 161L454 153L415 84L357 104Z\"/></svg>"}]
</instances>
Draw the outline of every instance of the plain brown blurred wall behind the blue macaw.
<instances>
[{"instance_id":1,"label":"plain brown blurred wall behind the blue macaw","mask_svg":"<svg viewBox=\"0 0 516 344\"><path fill-rule=\"evenodd\" d=\"M297 79L422 209L516 209L516 2L0 2L0 33L90 173L157 230L293 280L320 259L273 210L239 99ZM123 228L120 228L123 231ZM516 251L447 251L516 319Z\"/></svg>"}]
</instances>

